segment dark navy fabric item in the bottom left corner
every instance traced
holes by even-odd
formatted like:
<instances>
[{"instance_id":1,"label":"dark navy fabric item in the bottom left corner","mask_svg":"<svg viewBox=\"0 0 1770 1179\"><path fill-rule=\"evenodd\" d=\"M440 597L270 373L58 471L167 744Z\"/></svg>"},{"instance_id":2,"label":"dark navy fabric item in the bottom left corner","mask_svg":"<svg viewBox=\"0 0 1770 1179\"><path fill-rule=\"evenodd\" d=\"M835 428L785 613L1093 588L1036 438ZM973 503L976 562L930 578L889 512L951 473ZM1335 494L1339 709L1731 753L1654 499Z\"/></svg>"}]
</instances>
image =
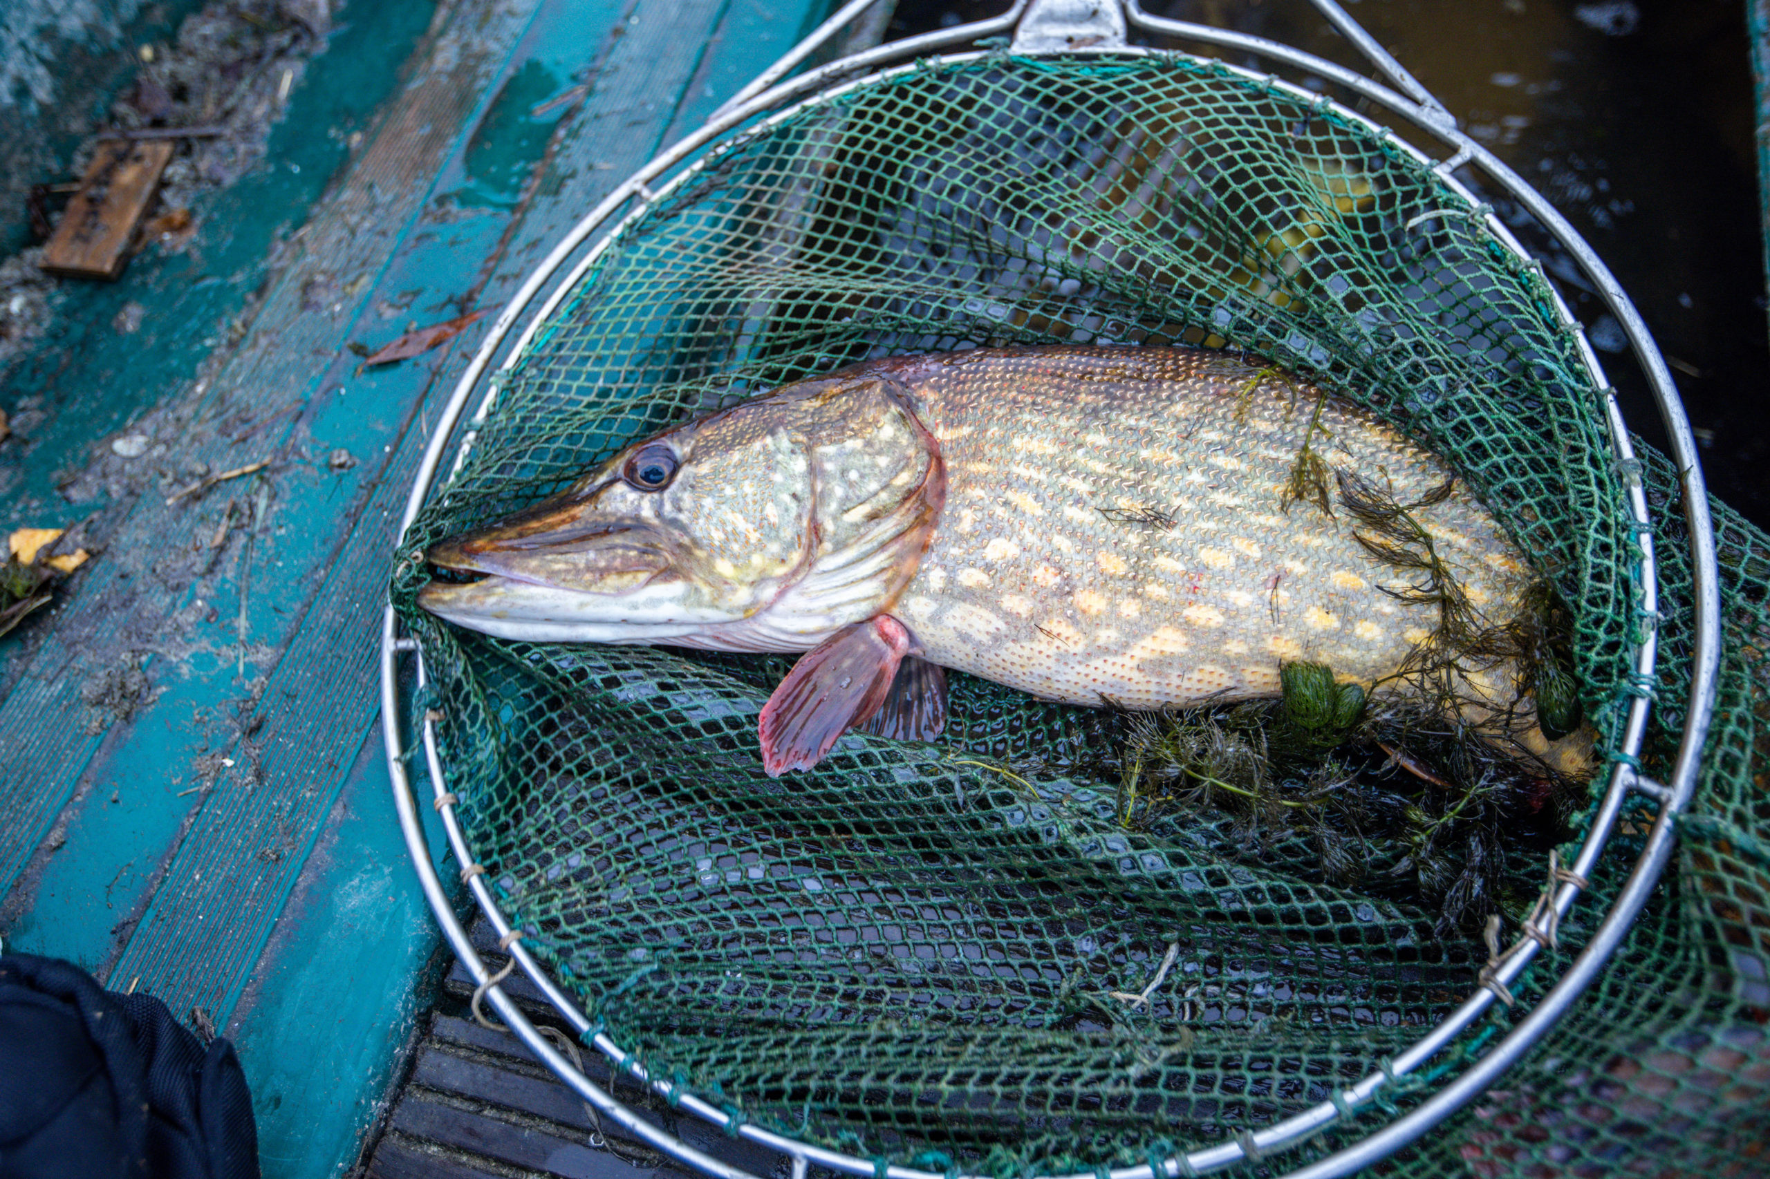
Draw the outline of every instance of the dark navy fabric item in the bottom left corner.
<instances>
[{"instance_id":1,"label":"dark navy fabric item in the bottom left corner","mask_svg":"<svg viewBox=\"0 0 1770 1179\"><path fill-rule=\"evenodd\" d=\"M0 956L0 1179L258 1179L234 1044L55 958Z\"/></svg>"}]
</instances>

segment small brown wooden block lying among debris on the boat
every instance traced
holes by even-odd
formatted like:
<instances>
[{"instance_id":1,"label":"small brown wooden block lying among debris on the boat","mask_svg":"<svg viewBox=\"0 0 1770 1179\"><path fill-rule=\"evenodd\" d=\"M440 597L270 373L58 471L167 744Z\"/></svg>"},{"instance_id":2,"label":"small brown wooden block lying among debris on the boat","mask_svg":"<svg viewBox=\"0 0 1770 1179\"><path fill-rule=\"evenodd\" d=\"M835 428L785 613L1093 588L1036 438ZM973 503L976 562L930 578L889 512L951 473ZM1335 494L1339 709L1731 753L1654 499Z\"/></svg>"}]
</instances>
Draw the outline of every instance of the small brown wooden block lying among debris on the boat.
<instances>
[{"instance_id":1,"label":"small brown wooden block lying among debris on the boat","mask_svg":"<svg viewBox=\"0 0 1770 1179\"><path fill-rule=\"evenodd\" d=\"M147 212L159 173L172 159L168 142L103 143L80 191L42 253L42 269L71 278L117 278L129 257L135 227Z\"/></svg>"}]
</instances>

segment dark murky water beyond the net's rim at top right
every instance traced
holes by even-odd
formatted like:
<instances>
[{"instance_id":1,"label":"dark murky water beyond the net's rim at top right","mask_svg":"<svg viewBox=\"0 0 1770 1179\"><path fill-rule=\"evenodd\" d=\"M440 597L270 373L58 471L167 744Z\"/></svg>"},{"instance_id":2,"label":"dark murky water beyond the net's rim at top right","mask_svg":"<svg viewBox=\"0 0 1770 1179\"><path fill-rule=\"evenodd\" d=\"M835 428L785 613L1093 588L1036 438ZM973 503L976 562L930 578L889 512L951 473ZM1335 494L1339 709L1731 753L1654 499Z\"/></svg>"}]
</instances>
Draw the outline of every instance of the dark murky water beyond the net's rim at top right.
<instances>
[{"instance_id":1,"label":"dark murky water beyond the net's rim at top right","mask_svg":"<svg viewBox=\"0 0 1770 1179\"><path fill-rule=\"evenodd\" d=\"M890 35L1005 7L899 4ZM1361 64L1308 0L1177 0L1147 9ZM1673 368L1710 489L1770 526L1770 336L1742 5L1361 0L1347 2L1347 11L1611 267ZM1510 214L1497 188L1485 195L1545 257L1588 326L1630 427L1664 448L1646 379L1600 297L1540 227Z\"/></svg>"}]
</instances>

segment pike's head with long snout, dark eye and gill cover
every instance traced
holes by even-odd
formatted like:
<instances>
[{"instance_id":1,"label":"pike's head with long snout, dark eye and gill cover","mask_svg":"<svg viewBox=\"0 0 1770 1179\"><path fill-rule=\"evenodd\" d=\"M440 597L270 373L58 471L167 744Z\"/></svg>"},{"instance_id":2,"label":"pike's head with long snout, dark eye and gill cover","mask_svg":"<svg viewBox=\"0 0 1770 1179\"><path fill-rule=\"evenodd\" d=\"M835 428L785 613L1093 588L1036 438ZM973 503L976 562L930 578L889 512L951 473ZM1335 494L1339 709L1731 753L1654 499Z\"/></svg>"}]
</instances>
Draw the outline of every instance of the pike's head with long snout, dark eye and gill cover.
<instances>
[{"instance_id":1,"label":"pike's head with long snout, dark eye and gill cover","mask_svg":"<svg viewBox=\"0 0 1770 1179\"><path fill-rule=\"evenodd\" d=\"M427 554L427 611L506 639L791 651L889 607L945 476L901 386L805 381L634 443Z\"/></svg>"}]
</instances>

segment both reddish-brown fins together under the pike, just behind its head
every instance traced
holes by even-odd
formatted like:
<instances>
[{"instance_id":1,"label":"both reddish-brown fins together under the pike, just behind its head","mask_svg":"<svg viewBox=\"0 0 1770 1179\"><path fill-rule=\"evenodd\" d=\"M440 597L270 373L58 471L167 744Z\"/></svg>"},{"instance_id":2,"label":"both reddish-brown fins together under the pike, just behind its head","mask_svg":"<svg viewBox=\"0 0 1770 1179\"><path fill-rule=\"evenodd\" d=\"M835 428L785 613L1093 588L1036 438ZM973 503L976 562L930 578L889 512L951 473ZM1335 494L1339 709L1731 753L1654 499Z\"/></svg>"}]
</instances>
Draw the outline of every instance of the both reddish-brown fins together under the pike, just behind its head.
<instances>
[{"instance_id":1,"label":"both reddish-brown fins together under the pike, just behind its head","mask_svg":"<svg viewBox=\"0 0 1770 1179\"><path fill-rule=\"evenodd\" d=\"M756 722L768 777L809 770L848 729L890 736L938 733L947 715L947 678L940 667L910 655L912 648L915 639L901 621L876 614L805 651ZM938 694L935 705L922 699L929 692ZM871 728L873 722L880 728Z\"/></svg>"}]
</instances>

